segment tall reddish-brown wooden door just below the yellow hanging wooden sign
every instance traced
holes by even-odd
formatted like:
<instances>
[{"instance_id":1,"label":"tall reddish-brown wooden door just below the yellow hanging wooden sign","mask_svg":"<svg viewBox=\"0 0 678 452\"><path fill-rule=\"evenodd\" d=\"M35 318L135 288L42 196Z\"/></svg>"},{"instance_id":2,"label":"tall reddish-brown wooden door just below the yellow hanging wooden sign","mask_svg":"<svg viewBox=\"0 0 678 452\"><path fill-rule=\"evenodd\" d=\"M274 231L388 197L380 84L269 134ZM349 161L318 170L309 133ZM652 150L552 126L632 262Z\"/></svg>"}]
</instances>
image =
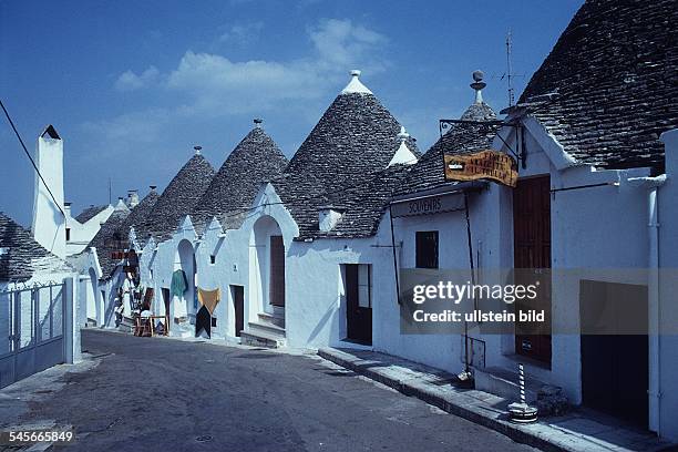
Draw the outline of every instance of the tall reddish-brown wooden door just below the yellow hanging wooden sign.
<instances>
[{"instance_id":1,"label":"tall reddish-brown wooden door just below the yellow hanging wooden sign","mask_svg":"<svg viewBox=\"0 0 678 452\"><path fill-rule=\"evenodd\" d=\"M513 192L515 284L538 284L535 300L518 300L518 310L544 310L545 321L515 323L515 351L551 364L551 178L520 179Z\"/></svg>"}]
</instances>

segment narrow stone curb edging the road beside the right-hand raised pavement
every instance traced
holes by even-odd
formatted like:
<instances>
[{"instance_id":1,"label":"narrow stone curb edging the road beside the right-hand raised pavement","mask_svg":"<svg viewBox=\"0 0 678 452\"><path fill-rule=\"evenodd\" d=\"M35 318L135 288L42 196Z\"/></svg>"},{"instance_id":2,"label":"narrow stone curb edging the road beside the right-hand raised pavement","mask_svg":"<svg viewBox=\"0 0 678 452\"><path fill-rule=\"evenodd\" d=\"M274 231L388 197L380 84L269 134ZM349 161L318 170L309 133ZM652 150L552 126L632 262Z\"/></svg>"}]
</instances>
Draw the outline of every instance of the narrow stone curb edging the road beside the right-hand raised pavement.
<instances>
[{"instance_id":1,"label":"narrow stone curb edging the road beside the right-hand raised pavement","mask_svg":"<svg viewBox=\"0 0 678 452\"><path fill-rule=\"evenodd\" d=\"M440 393L436 393L436 391L431 388L430 384L422 382L419 378L399 380L397 378L387 376L384 372L379 370L380 368L373 368L373 364L378 361L368 361L356 358L340 350L329 350L322 348L318 350L318 356L371 380L386 384L405 396L415 397L429 404L440 408L450 414L458 415L473 423L492 429L511 438L515 442L527 444L547 452L577 452L581 450L576 449L575 444L573 444L572 448L568 448L564 444L556 444L548 441L546 438L544 438L546 432L533 431L536 430L534 427L538 427L538 424L532 424L530 427L513 424L506 420L493 417L492 414L494 413L491 414L491 412L483 409L479 404L463 405L455 403L454 401L450 400L450 398L445 398Z\"/></svg>"}]
</instances>

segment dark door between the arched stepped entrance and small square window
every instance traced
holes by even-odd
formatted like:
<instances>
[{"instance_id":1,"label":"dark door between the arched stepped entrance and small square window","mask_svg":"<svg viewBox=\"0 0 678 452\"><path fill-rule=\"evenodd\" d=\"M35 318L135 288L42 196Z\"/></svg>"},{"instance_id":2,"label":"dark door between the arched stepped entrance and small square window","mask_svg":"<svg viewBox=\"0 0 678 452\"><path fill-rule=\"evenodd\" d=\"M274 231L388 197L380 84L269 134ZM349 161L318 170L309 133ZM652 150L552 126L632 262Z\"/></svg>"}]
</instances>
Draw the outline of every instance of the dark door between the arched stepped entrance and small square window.
<instances>
[{"instance_id":1,"label":"dark door between the arched stepped entrance and small square window","mask_svg":"<svg viewBox=\"0 0 678 452\"><path fill-rule=\"evenodd\" d=\"M370 302L370 273L368 266L362 266L362 278L360 265L347 264L346 270L346 315L348 339L361 343L372 343L372 306ZM366 280L367 278L367 280ZM364 294L364 290L368 290ZM361 290L363 291L361 296ZM361 302L362 297L362 302ZM366 298L367 297L367 298Z\"/></svg>"}]
</instances>

